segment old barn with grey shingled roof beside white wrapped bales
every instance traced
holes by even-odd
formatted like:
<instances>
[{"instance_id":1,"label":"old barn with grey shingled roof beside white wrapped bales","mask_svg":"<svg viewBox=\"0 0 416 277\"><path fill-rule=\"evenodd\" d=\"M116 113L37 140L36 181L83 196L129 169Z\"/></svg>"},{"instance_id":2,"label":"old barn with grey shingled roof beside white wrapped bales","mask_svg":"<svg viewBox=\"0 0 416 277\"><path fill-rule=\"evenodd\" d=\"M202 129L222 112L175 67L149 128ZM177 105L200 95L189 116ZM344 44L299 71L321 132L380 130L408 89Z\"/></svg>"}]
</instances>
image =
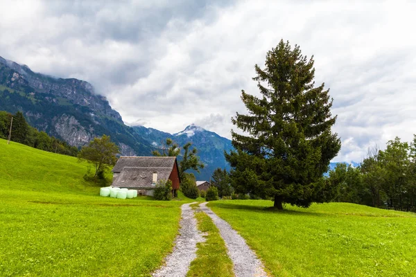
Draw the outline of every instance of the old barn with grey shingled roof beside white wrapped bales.
<instances>
[{"instance_id":1,"label":"old barn with grey shingled roof beside white wrapped bales","mask_svg":"<svg viewBox=\"0 0 416 277\"><path fill-rule=\"evenodd\" d=\"M173 195L180 186L176 157L120 157L112 172L112 186L135 189L139 195L153 195L159 180L172 181Z\"/></svg>"}]
</instances>

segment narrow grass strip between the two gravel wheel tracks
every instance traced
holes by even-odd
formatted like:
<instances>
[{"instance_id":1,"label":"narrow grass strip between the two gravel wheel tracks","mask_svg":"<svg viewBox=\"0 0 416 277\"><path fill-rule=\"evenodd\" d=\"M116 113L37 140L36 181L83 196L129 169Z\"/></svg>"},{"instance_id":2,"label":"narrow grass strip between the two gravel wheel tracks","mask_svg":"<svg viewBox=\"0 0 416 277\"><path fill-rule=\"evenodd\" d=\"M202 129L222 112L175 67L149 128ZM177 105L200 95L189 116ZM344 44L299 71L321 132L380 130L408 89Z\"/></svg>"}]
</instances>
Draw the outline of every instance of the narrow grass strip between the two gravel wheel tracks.
<instances>
[{"instance_id":1,"label":"narrow grass strip between the two gravel wheel tracks","mask_svg":"<svg viewBox=\"0 0 416 277\"><path fill-rule=\"evenodd\" d=\"M193 204L191 206L198 205ZM225 242L212 222L203 212L196 212L198 229L205 233L205 242L198 242L196 259L191 262L187 276L234 276L232 261L227 254Z\"/></svg>"}]
</instances>

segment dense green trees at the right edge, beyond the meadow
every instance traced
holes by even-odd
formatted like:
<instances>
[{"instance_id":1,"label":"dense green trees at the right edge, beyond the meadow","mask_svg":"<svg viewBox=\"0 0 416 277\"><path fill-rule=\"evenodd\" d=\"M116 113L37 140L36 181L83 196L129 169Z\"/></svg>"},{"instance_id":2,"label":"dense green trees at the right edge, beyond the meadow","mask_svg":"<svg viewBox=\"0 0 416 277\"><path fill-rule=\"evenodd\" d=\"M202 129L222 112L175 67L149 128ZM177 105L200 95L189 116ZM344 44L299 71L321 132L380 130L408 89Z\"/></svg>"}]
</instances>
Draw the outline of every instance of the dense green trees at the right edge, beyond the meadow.
<instances>
[{"instance_id":1,"label":"dense green trees at the right edge, beyond the meadow","mask_svg":"<svg viewBox=\"0 0 416 277\"><path fill-rule=\"evenodd\" d=\"M333 200L399 211L416 211L416 136L412 143L396 137L385 150L373 148L359 168L338 164L328 180Z\"/></svg>"}]
</instances>

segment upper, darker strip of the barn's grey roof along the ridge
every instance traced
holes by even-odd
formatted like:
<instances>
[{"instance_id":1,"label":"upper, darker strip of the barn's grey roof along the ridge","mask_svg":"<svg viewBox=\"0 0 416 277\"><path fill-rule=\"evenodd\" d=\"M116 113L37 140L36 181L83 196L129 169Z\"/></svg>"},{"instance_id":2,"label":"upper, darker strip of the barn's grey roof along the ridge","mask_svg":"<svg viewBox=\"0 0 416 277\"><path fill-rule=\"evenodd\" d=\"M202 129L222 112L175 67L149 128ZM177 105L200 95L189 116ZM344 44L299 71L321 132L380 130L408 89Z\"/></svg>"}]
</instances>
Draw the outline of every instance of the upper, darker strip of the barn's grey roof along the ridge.
<instances>
[{"instance_id":1,"label":"upper, darker strip of the barn's grey roof along the ridge","mask_svg":"<svg viewBox=\"0 0 416 277\"><path fill-rule=\"evenodd\" d=\"M112 172L123 168L173 168L176 157L120 157Z\"/></svg>"}]
</instances>

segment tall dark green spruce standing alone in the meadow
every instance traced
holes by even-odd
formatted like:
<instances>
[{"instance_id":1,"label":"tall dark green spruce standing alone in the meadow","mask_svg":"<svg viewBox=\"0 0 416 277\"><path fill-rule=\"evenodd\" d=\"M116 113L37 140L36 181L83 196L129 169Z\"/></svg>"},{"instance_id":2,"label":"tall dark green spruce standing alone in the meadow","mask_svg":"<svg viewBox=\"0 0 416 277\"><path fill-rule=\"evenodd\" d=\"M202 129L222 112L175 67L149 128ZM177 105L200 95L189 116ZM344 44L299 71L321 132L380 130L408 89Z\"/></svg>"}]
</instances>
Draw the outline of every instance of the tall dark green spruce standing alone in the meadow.
<instances>
[{"instance_id":1,"label":"tall dark green spruce standing alone in the meadow","mask_svg":"<svg viewBox=\"0 0 416 277\"><path fill-rule=\"evenodd\" d=\"M331 132L336 116L329 89L313 82L313 62L281 40L268 51L265 69L255 65L261 96L242 91L248 114L237 113L232 123L243 134L232 130L236 150L225 153L236 193L273 197L279 209L282 203L306 208L327 200L329 182L322 175L340 139Z\"/></svg>"}]
</instances>

